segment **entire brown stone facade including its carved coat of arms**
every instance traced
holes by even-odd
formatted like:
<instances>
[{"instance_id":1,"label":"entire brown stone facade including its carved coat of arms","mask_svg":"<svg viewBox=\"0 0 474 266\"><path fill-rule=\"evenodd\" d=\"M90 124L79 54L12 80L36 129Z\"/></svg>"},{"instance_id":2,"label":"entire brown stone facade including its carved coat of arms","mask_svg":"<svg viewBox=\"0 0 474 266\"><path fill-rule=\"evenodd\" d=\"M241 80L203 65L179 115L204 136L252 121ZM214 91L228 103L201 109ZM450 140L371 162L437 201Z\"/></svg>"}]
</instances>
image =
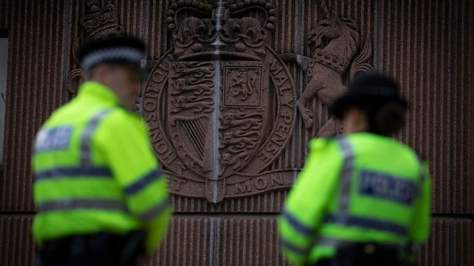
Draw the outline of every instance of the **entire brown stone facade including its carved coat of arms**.
<instances>
[{"instance_id":1,"label":"entire brown stone facade including its carved coat of arms","mask_svg":"<svg viewBox=\"0 0 474 266\"><path fill-rule=\"evenodd\" d=\"M328 104L374 70L400 80L410 112L397 138L430 161L420 265L474 264L472 1L0 0L0 12L0 265L33 264L34 135L84 81L77 45L110 34L148 45L136 110L175 211L148 265L288 265L276 219L307 143L341 132Z\"/></svg>"}]
</instances>

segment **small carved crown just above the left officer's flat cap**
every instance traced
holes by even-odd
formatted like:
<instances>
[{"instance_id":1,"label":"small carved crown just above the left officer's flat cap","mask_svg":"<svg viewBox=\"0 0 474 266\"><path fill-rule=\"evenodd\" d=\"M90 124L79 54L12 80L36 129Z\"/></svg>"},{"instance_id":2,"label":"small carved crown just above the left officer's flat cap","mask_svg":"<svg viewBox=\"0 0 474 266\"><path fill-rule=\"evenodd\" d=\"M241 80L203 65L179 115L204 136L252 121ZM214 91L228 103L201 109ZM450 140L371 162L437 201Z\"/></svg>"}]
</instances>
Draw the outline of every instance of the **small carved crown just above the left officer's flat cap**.
<instances>
[{"instance_id":1,"label":"small carved crown just above the left officer's flat cap","mask_svg":"<svg viewBox=\"0 0 474 266\"><path fill-rule=\"evenodd\" d=\"M92 13L81 18L81 25L89 38L123 33L124 29L119 24L117 8L114 4L100 8L96 1L88 0L87 5Z\"/></svg>"}]
</instances>

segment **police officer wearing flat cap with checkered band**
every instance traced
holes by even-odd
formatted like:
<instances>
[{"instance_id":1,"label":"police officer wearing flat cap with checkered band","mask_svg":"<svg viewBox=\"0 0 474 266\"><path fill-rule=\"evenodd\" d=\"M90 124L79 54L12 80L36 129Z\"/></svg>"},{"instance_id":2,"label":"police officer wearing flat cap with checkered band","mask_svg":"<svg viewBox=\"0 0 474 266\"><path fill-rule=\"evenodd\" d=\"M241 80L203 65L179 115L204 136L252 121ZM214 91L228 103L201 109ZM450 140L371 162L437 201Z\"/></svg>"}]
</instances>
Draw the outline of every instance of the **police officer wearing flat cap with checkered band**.
<instances>
[{"instance_id":1,"label":"police officer wearing flat cap with checkered band","mask_svg":"<svg viewBox=\"0 0 474 266\"><path fill-rule=\"evenodd\" d=\"M37 265L135 265L163 238L168 185L147 126L132 111L144 50L132 37L79 48L88 81L46 121L34 146Z\"/></svg>"}]
</instances>

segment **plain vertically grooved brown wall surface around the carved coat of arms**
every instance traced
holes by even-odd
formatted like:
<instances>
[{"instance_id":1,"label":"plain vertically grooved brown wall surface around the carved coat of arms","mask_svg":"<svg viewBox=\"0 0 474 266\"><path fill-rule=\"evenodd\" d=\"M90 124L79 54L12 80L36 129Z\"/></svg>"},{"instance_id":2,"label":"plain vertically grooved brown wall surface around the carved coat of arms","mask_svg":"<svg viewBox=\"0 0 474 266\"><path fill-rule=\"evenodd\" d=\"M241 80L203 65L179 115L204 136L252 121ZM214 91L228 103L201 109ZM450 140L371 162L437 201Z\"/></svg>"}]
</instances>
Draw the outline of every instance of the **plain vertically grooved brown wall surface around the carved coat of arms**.
<instances>
[{"instance_id":1,"label":"plain vertically grooved brown wall surface around the carved coat of arms","mask_svg":"<svg viewBox=\"0 0 474 266\"><path fill-rule=\"evenodd\" d=\"M311 56L309 32L322 19L319 0L271 0L275 31L268 44L278 54ZM126 33L141 36L147 59L170 47L166 12L173 0L101 0L114 3ZM433 176L431 235L420 253L423 266L474 265L474 1L326 0L340 16L355 19L372 45L372 65L396 77L410 102L397 139L430 162ZM68 75L78 69L74 50L86 38L84 0L0 0L0 32L8 33L3 166L0 171L0 265L33 265L31 153L34 136L51 112L72 98ZM297 97L307 75L287 63ZM343 81L346 82L344 77ZM69 90L68 90L69 89ZM308 141L330 113L317 98L308 103L315 121L307 130L297 111L288 145L266 171L301 169ZM276 221L288 192L271 191L225 200L172 195L175 216L156 265L286 265Z\"/></svg>"}]
</instances>

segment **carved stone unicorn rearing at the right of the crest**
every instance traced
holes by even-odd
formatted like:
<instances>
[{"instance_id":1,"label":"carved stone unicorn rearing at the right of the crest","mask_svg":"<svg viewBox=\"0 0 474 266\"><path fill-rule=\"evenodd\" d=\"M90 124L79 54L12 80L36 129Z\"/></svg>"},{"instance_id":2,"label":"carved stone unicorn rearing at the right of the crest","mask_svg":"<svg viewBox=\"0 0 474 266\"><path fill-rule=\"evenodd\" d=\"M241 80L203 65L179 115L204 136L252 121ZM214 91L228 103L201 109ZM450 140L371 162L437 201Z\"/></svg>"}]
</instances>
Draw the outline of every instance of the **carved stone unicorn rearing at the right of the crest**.
<instances>
[{"instance_id":1,"label":"carved stone unicorn rearing at the right of the crest","mask_svg":"<svg viewBox=\"0 0 474 266\"><path fill-rule=\"evenodd\" d=\"M310 31L307 45L312 57L284 54L285 61L294 61L306 71L308 84L298 100L297 107L310 129L314 123L313 110L306 106L314 97L329 107L346 93L343 79L373 71L368 63L372 58L371 40L361 41L359 29L352 18L340 17L330 11L324 0L320 1L323 19ZM347 77L348 76L348 77ZM342 123L331 117L319 130L318 136L330 137L342 131Z\"/></svg>"}]
</instances>

